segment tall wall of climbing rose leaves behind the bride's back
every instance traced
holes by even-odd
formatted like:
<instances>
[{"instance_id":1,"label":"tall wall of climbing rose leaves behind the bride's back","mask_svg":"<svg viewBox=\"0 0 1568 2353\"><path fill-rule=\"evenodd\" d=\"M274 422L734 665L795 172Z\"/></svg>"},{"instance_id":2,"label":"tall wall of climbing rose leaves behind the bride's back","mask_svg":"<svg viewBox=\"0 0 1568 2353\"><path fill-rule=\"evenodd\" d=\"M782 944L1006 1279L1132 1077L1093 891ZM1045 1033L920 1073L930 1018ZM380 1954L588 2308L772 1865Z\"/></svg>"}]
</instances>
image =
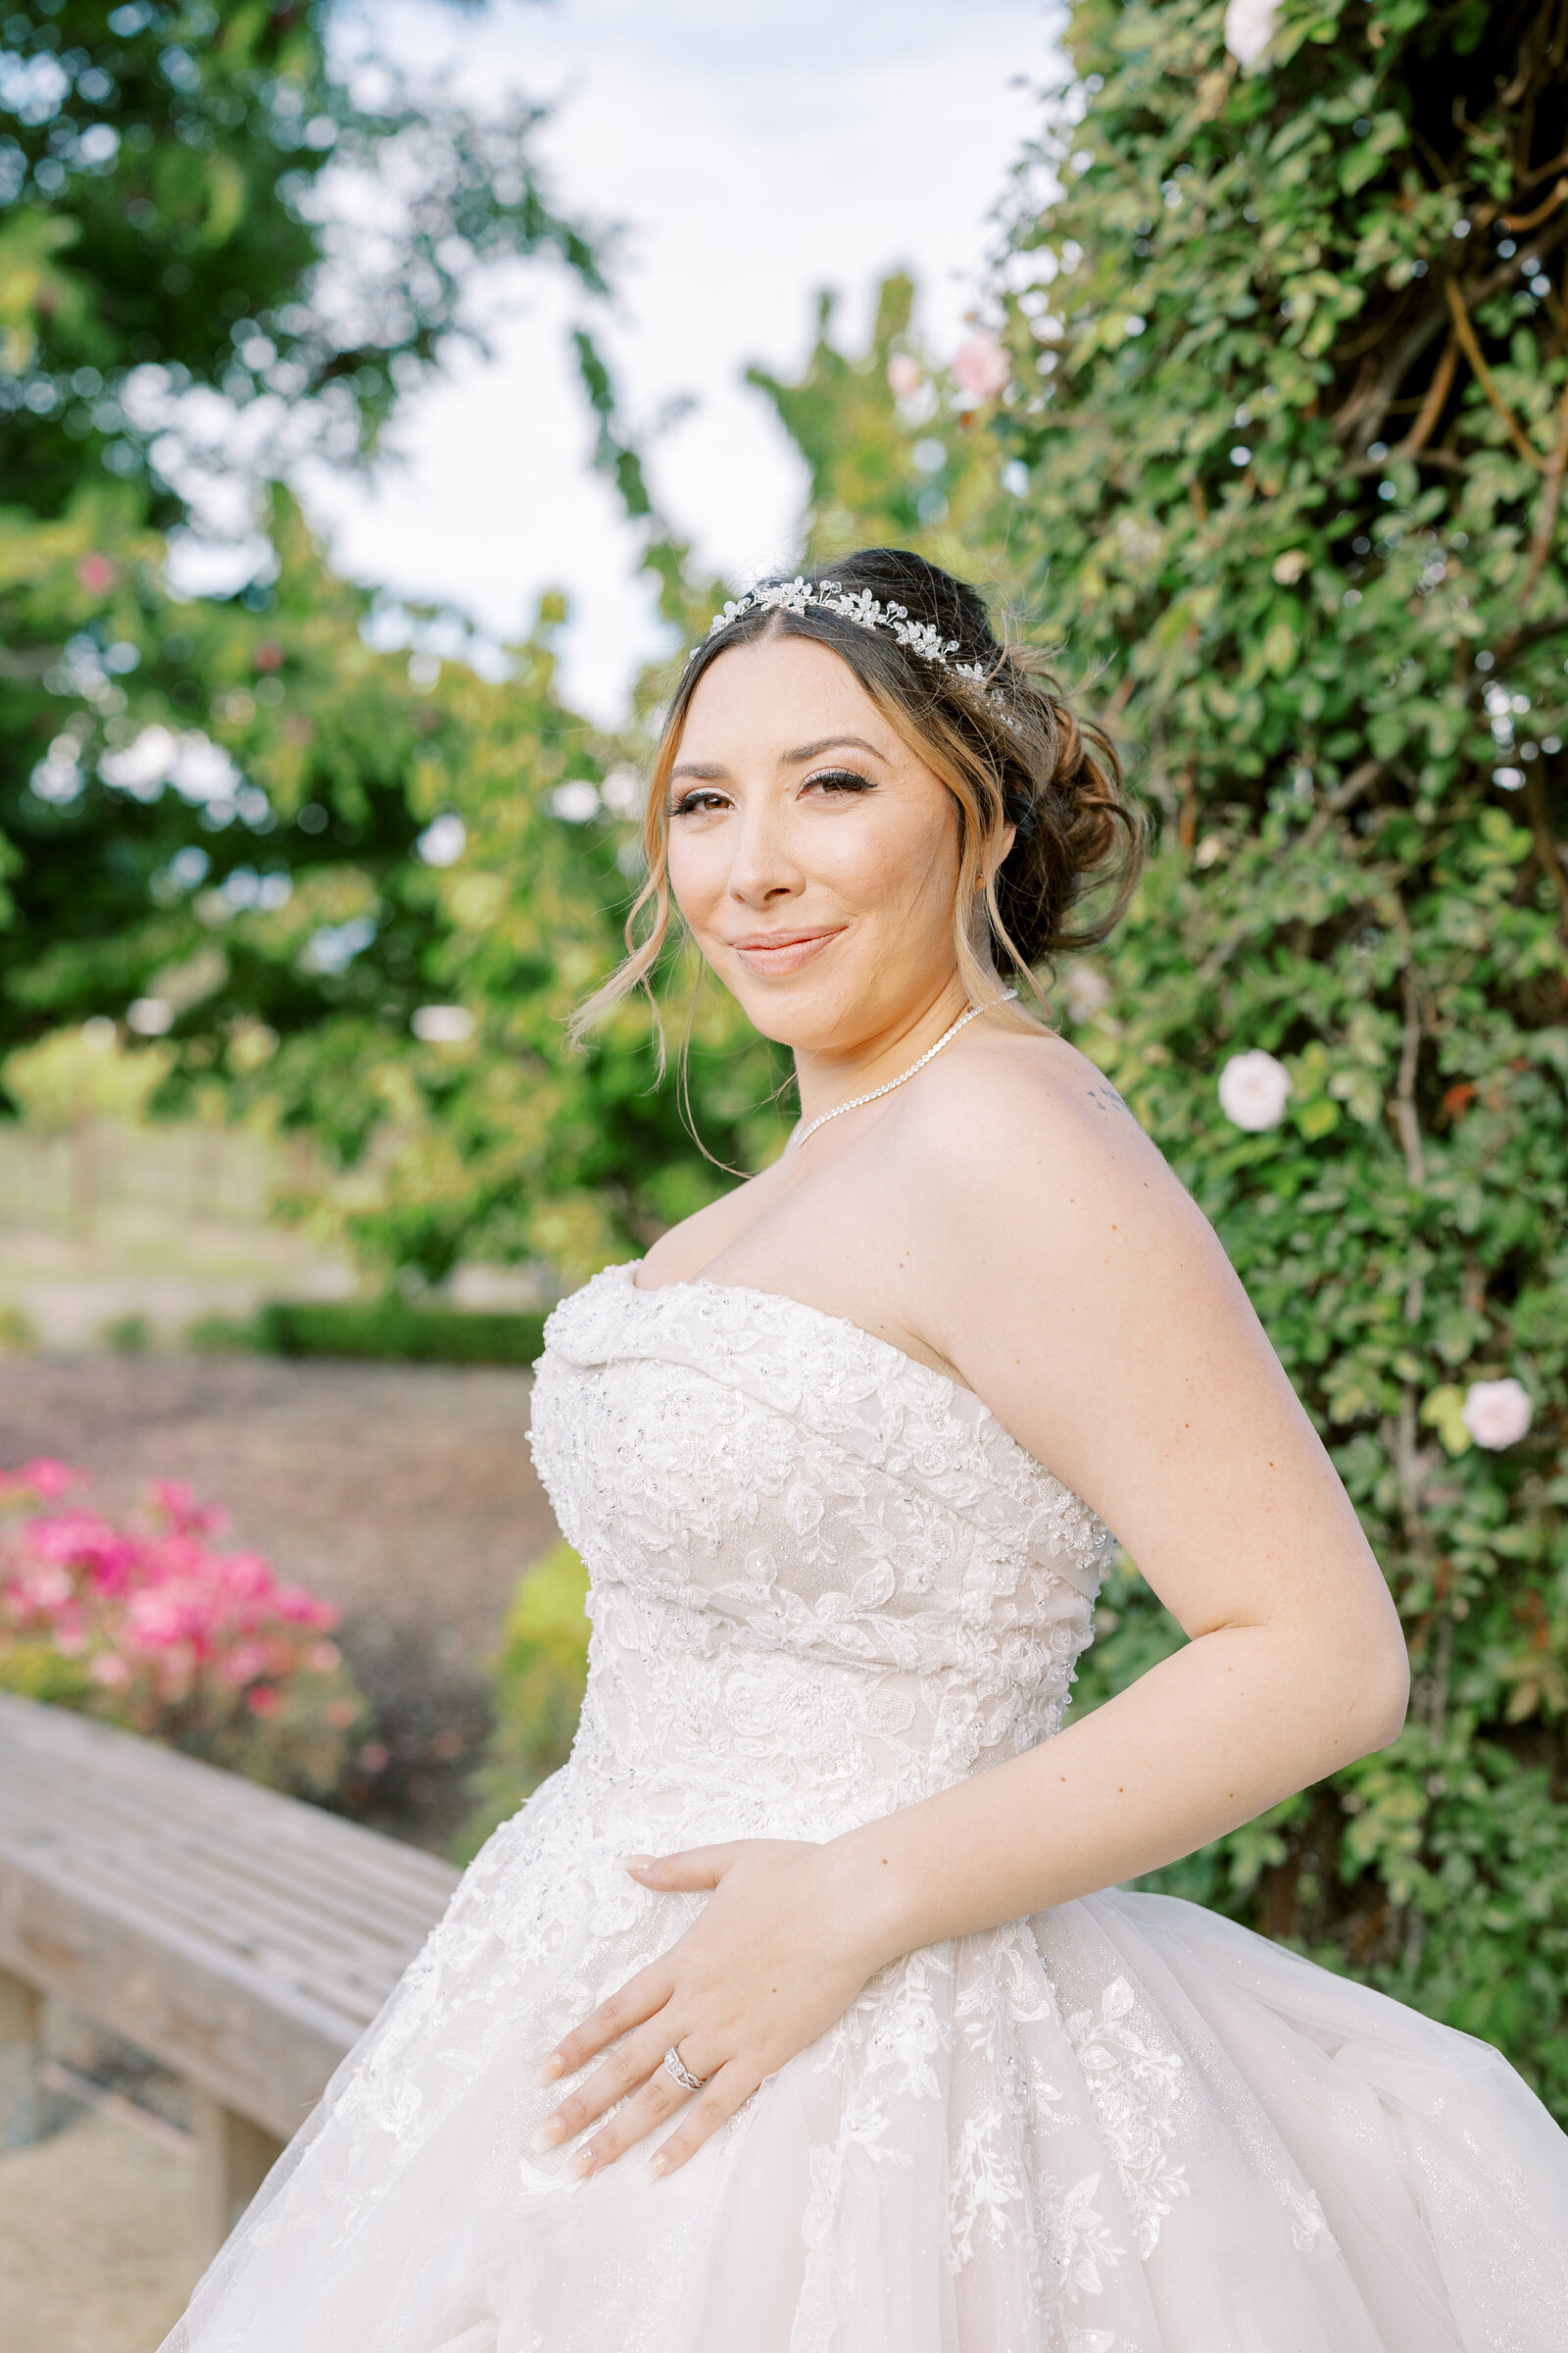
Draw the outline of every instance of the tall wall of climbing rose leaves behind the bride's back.
<instances>
[{"instance_id":1,"label":"tall wall of climbing rose leaves behind the bride's back","mask_svg":"<svg viewBox=\"0 0 1568 2353\"><path fill-rule=\"evenodd\" d=\"M1500 2040L1568 2115L1547 52L1544 9L1302 5L1241 75L1218 7L1081 0L1063 193L1020 184L1006 264L1027 492L987 539L1161 821L1077 1042L1220 1228L1415 1666L1396 1748L1157 1885ZM1215 1101L1248 1047L1293 1080L1265 1134ZM1535 1426L1483 1452L1458 1409L1497 1377ZM1173 1633L1131 1579L1110 1609L1081 1704Z\"/></svg>"}]
</instances>

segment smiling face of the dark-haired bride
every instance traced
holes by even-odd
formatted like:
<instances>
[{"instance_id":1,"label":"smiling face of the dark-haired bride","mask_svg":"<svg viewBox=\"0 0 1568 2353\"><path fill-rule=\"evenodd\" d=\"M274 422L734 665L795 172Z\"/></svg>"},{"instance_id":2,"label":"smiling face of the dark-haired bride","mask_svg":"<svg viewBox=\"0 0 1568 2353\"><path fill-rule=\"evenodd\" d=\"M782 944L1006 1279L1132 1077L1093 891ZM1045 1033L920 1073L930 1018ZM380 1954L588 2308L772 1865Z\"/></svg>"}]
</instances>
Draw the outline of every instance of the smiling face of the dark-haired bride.
<instances>
[{"instance_id":1,"label":"smiling face of the dark-haired bride","mask_svg":"<svg viewBox=\"0 0 1568 2353\"><path fill-rule=\"evenodd\" d=\"M809 638L703 673L670 776L670 887L764 1038L853 1052L957 979L957 807Z\"/></svg>"}]
</instances>

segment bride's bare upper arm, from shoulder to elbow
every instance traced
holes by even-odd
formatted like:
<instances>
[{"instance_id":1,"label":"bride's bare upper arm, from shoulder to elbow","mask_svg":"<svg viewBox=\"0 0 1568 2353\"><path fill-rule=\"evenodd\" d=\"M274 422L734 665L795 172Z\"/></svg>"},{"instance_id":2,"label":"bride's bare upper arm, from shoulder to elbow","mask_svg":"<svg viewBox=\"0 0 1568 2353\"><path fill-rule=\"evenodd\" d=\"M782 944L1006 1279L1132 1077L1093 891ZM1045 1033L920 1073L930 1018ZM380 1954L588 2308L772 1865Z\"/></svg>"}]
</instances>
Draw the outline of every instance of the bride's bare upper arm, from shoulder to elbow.
<instances>
[{"instance_id":1,"label":"bride's bare upper arm, from shoulder to elbow","mask_svg":"<svg viewBox=\"0 0 1568 2353\"><path fill-rule=\"evenodd\" d=\"M933 1125L933 1344L1190 1635L1288 1617L1396 1640L1312 1421L1131 1113L1070 1047L1001 1068L976 1056L961 1085L985 1087L985 1118L976 1099Z\"/></svg>"}]
</instances>

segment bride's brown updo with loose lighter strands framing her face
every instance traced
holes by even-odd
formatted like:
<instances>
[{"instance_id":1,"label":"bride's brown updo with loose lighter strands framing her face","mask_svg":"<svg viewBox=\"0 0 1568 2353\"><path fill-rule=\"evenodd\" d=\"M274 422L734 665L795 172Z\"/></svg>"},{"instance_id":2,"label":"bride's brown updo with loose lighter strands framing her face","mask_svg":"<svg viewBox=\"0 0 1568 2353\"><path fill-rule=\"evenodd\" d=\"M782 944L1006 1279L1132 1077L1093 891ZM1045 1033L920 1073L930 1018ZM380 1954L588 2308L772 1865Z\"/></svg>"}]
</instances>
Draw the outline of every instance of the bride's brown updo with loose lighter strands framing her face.
<instances>
[{"instance_id":1,"label":"bride's brown updo with loose lighter strands framing her face","mask_svg":"<svg viewBox=\"0 0 1568 2353\"><path fill-rule=\"evenodd\" d=\"M891 628L863 628L820 605L806 605L804 612L752 607L708 638L686 664L658 739L642 816L646 880L625 918L628 955L578 1007L574 1040L632 988L649 984L668 939L670 769L698 680L731 645L813 638L832 647L910 751L943 779L959 821L952 936L973 1005L994 1000L969 936L969 911L983 875L980 904L997 965L1020 974L1032 988L1037 965L1072 948L1098 946L1126 908L1143 859L1143 828L1124 795L1114 746L1074 715L1039 654L994 635L978 591L905 548L860 548L804 579L818 588L865 588L884 607L903 605L910 621L931 624L943 640L957 640L950 661L980 666L983 678L959 678L950 664L929 661L900 645ZM997 864L1009 826L1016 828L1013 847ZM1074 920L1074 908L1091 887L1098 887L1100 904ZM646 911L651 920L644 922Z\"/></svg>"}]
</instances>

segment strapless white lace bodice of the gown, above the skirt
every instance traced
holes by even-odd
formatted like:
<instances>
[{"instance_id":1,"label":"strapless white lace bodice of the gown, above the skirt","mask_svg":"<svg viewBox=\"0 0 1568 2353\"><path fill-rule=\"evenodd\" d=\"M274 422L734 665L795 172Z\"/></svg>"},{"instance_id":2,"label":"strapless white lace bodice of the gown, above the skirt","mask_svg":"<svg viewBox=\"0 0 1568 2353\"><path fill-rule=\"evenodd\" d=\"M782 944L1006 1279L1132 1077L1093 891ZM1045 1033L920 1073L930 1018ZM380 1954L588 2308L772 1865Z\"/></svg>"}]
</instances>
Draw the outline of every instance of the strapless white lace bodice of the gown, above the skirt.
<instances>
[{"instance_id":1,"label":"strapless white lace bodice of the gown, above the skirt","mask_svg":"<svg viewBox=\"0 0 1568 2353\"><path fill-rule=\"evenodd\" d=\"M823 1835L1056 1732L1110 1548L1088 1506L858 1325L632 1275L555 1308L534 1391L592 1581L576 1767Z\"/></svg>"}]
</instances>

